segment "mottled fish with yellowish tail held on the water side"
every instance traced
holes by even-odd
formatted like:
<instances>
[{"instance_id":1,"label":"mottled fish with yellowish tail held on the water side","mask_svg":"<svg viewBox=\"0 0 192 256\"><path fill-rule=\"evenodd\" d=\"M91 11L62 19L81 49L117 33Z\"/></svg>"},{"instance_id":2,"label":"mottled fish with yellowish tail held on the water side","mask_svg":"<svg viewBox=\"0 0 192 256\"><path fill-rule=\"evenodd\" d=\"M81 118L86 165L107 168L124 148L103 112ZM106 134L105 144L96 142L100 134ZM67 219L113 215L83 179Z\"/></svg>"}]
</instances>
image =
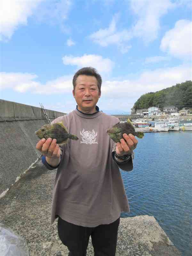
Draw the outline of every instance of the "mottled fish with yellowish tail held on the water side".
<instances>
[{"instance_id":1,"label":"mottled fish with yellowish tail held on the water side","mask_svg":"<svg viewBox=\"0 0 192 256\"><path fill-rule=\"evenodd\" d=\"M115 142L120 142L120 140L123 139L124 133L131 133L132 135L137 136L140 139L142 139L144 136L143 132L135 132L135 128L129 118L127 119L127 122L118 122L113 125L113 127L107 130L107 133L109 137Z\"/></svg>"}]
</instances>

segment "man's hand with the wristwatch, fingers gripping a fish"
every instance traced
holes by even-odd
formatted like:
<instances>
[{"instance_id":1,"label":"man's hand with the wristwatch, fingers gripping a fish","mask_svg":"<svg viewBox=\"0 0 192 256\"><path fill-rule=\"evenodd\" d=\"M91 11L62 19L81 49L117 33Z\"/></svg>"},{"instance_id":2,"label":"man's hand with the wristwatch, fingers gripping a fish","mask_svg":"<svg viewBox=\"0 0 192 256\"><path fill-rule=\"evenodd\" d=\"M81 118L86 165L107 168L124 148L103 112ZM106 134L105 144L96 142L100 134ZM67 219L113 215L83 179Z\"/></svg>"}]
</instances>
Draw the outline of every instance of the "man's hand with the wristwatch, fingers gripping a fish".
<instances>
[{"instance_id":1,"label":"man's hand with the wristwatch, fingers gripping a fish","mask_svg":"<svg viewBox=\"0 0 192 256\"><path fill-rule=\"evenodd\" d=\"M133 136L131 133L127 135L126 133L123 134L123 139L120 140L120 142L117 142L116 145L116 154L118 156L124 156L124 155L131 155L132 151L137 147L138 140L135 139L135 136Z\"/></svg>"}]
</instances>

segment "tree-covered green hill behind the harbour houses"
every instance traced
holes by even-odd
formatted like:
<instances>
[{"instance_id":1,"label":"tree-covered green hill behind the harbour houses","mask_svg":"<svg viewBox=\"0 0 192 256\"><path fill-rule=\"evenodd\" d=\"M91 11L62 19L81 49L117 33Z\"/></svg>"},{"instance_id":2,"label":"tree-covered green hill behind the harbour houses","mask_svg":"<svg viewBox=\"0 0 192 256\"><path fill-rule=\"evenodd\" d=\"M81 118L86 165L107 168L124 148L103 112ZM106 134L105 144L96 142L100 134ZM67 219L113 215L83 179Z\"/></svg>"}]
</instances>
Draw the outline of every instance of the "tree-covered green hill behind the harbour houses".
<instances>
[{"instance_id":1,"label":"tree-covered green hill behind the harbour houses","mask_svg":"<svg viewBox=\"0 0 192 256\"><path fill-rule=\"evenodd\" d=\"M175 106L179 110L192 107L192 81L176 84L157 92L143 94L134 104L135 111L140 108Z\"/></svg>"}]
</instances>

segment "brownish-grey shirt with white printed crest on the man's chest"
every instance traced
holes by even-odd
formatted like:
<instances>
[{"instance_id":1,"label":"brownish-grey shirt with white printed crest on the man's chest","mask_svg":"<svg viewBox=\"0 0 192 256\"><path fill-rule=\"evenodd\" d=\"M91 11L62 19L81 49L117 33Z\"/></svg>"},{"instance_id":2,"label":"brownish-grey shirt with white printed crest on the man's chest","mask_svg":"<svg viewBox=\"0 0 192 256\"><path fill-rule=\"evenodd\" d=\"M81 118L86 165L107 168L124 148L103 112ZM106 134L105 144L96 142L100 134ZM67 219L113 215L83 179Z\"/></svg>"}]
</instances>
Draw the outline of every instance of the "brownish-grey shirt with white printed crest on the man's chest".
<instances>
[{"instance_id":1,"label":"brownish-grey shirt with white printed crest on the man's chest","mask_svg":"<svg viewBox=\"0 0 192 256\"><path fill-rule=\"evenodd\" d=\"M121 212L129 212L119 168L131 171L133 156L127 162L117 163L113 156L116 143L106 132L119 119L103 112L85 115L76 109L52 121L57 122L63 122L79 140L68 139L62 146L51 223L59 215L75 225L96 227L112 223Z\"/></svg>"}]
</instances>

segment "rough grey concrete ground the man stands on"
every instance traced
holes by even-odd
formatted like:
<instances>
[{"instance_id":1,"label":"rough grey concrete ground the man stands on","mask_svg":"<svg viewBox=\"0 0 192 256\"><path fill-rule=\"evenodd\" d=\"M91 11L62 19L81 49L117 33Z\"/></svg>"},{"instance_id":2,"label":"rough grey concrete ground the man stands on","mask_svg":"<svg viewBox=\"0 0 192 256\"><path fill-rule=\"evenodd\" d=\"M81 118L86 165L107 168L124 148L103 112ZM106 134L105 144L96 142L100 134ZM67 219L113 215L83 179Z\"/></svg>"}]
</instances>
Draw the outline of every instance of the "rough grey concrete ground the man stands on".
<instances>
[{"instance_id":1,"label":"rough grey concrete ground the man stands on","mask_svg":"<svg viewBox=\"0 0 192 256\"><path fill-rule=\"evenodd\" d=\"M47 170L39 159L0 198L0 223L22 236L30 256L67 256L57 234L57 220L50 225L52 188L56 170ZM87 256L93 256L91 238ZM116 256L179 256L152 216L120 220ZM19 255L15 255L19 256Z\"/></svg>"}]
</instances>

